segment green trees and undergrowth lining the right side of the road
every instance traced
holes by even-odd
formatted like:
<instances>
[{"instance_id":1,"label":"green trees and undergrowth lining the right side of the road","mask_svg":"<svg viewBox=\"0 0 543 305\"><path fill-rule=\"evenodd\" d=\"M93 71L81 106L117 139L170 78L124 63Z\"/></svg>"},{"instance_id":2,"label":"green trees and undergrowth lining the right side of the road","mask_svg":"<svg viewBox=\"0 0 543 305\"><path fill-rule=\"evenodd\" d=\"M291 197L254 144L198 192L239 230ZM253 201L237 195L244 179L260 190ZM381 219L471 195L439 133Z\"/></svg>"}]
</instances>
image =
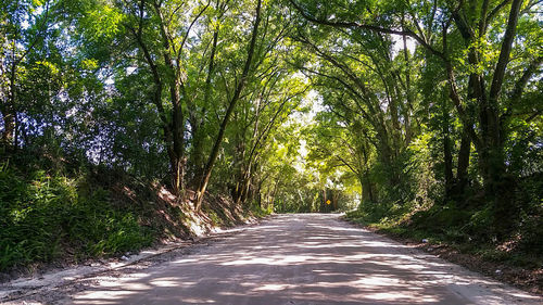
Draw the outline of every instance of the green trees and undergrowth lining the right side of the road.
<instances>
[{"instance_id":1,"label":"green trees and undergrowth lining the right side of the road","mask_svg":"<svg viewBox=\"0 0 543 305\"><path fill-rule=\"evenodd\" d=\"M349 217L541 266L538 1L290 2L326 109L312 154L362 188Z\"/></svg>"}]
</instances>

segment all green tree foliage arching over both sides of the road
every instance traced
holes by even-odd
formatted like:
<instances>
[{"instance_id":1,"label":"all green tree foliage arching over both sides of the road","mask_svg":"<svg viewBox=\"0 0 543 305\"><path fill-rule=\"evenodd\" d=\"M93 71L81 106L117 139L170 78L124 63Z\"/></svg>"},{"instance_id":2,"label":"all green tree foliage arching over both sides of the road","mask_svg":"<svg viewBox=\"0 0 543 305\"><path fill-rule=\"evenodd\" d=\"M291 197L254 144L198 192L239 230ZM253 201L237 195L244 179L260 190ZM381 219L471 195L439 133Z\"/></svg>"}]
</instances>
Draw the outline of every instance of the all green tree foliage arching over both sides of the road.
<instances>
[{"instance_id":1,"label":"all green tree foliage arching over both sides of the road","mask_svg":"<svg viewBox=\"0 0 543 305\"><path fill-rule=\"evenodd\" d=\"M132 209L78 182L96 167L195 211L206 192L268 212L357 207L366 223L541 254L541 10L2 1L0 268L63 242L94 254L149 243Z\"/></svg>"}]
</instances>

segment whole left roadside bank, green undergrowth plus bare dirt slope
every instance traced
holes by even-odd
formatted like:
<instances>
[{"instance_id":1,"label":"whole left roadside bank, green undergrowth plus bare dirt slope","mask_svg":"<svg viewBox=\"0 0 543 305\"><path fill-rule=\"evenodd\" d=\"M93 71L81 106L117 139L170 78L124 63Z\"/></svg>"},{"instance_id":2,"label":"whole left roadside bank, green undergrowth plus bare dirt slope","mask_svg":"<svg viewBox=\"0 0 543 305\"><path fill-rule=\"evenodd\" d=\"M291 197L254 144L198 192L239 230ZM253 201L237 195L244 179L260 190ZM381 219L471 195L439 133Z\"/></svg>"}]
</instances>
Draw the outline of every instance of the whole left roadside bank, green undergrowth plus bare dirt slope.
<instances>
[{"instance_id":1,"label":"whole left roadside bank, green undergrowth plus bare dirt slope","mask_svg":"<svg viewBox=\"0 0 543 305\"><path fill-rule=\"evenodd\" d=\"M161 183L111 169L9 163L0 165L0 272L135 252L253 215L219 195L194 213Z\"/></svg>"}]
</instances>

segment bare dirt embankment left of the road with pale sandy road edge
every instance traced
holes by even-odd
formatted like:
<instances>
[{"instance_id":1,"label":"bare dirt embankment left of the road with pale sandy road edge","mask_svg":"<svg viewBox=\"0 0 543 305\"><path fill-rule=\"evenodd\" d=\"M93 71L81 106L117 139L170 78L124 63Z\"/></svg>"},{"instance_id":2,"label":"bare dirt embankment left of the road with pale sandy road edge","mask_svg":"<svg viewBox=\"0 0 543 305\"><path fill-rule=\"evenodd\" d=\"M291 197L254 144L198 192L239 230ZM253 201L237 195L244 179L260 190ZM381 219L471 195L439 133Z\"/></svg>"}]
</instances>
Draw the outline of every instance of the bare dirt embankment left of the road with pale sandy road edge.
<instances>
[{"instance_id":1,"label":"bare dirt embankment left of the road with pale sandy road edge","mask_svg":"<svg viewBox=\"0 0 543 305\"><path fill-rule=\"evenodd\" d=\"M147 249L86 257L83 260L65 252L53 262L12 268L9 272L0 274L1 304L16 304L25 297L43 293L53 297L66 289L77 290L79 283L94 277L137 269L162 262L164 257L190 252L194 246L227 237L237 230L229 228L254 224L258 219L251 212L235 205L227 196L206 195L202 211L195 212L191 191L187 191L185 200L179 200L161 186L125 182L115 183L111 189L119 208L123 205L138 206L135 211L140 213L140 226L153 229L154 243ZM46 304L48 302L46 300Z\"/></svg>"}]
</instances>

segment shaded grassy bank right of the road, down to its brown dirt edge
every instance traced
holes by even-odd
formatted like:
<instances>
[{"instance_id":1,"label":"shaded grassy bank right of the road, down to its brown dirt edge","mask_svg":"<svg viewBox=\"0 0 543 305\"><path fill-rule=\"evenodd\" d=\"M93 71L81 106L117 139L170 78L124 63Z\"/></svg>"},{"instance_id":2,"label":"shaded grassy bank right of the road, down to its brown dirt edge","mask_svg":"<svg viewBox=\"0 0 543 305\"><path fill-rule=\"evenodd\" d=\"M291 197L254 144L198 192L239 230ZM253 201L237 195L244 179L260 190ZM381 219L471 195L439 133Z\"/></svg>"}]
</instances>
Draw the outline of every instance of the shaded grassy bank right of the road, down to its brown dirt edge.
<instances>
[{"instance_id":1,"label":"shaded grassy bank right of the road, down to its brown dirt edge","mask_svg":"<svg viewBox=\"0 0 543 305\"><path fill-rule=\"evenodd\" d=\"M345 218L469 269L543 294L543 224L540 218L527 216L508 237L498 239L493 228L484 223L489 218L484 208L434 205L424 211L404 206L382 212L362 205Z\"/></svg>"}]
</instances>

